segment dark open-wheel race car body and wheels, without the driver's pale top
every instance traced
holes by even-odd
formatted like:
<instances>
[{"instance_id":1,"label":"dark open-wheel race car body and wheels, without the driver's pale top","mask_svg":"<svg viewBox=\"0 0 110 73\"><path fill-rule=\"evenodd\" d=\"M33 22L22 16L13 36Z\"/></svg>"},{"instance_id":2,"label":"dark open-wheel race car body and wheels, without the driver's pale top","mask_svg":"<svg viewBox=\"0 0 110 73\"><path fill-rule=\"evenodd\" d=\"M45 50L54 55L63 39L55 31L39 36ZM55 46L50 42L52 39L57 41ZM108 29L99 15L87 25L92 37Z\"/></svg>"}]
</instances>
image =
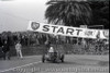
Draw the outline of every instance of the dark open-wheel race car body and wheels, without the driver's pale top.
<instances>
[{"instance_id":1,"label":"dark open-wheel race car body and wheels, without the driver's pale top","mask_svg":"<svg viewBox=\"0 0 110 73\"><path fill-rule=\"evenodd\" d=\"M50 61L50 62L64 62L64 58L65 58L65 54L63 53L63 51L57 49L54 52L48 52L47 51L47 53L44 53L42 56L42 62L43 63L46 62L46 61Z\"/></svg>"}]
</instances>

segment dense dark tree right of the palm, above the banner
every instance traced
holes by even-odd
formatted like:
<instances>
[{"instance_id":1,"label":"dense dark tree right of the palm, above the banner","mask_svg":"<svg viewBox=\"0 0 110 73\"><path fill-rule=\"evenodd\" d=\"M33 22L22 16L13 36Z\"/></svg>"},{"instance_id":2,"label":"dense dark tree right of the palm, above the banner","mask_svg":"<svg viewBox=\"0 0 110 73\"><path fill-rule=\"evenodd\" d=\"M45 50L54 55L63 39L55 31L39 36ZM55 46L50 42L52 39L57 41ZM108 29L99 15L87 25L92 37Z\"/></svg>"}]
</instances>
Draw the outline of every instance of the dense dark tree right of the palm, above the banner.
<instances>
[{"instance_id":1,"label":"dense dark tree right of the palm, above the banner","mask_svg":"<svg viewBox=\"0 0 110 73\"><path fill-rule=\"evenodd\" d=\"M92 23L90 25L105 25L109 28L109 1L89 1L92 10Z\"/></svg>"}]
</instances>

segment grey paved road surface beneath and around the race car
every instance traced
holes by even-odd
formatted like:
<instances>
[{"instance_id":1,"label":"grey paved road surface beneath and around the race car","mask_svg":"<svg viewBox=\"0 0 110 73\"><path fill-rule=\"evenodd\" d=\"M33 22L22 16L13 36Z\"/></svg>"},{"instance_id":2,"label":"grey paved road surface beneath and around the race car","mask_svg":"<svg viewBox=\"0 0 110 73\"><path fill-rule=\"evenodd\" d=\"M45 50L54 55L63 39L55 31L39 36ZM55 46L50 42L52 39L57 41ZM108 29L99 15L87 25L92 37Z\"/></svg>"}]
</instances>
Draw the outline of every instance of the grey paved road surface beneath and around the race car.
<instances>
[{"instance_id":1,"label":"grey paved road surface beneath and around the race car","mask_svg":"<svg viewBox=\"0 0 110 73\"><path fill-rule=\"evenodd\" d=\"M0 60L0 73L109 73L109 56L67 54L64 63L42 63L41 56Z\"/></svg>"}]
</instances>

